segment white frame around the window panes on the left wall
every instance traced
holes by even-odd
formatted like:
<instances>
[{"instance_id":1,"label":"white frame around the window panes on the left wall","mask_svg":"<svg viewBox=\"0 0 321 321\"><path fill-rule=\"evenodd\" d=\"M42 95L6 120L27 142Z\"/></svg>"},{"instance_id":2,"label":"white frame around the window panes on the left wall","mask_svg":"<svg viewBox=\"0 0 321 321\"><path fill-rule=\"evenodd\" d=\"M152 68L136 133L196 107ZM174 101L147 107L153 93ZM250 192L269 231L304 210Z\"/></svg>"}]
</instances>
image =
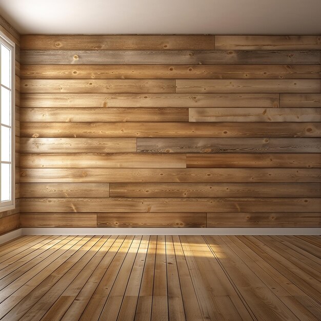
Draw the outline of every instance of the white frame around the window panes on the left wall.
<instances>
[{"instance_id":1,"label":"white frame around the window panes on the left wall","mask_svg":"<svg viewBox=\"0 0 321 321\"><path fill-rule=\"evenodd\" d=\"M0 212L13 210L15 208L15 43L0 31L0 43L11 50L11 200L0 201ZM0 61L1 64L1 61ZM1 68L1 66L0 66ZM2 85L0 84L0 87ZM6 88L4 86L4 88ZM1 124L1 116L0 116ZM1 141L0 141L1 148ZM1 151L1 150L0 150ZM0 159L1 162L1 159ZM1 163L2 164L2 163ZM0 172L1 174L1 172ZM0 180L1 193L1 180Z\"/></svg>"}]
</instances>

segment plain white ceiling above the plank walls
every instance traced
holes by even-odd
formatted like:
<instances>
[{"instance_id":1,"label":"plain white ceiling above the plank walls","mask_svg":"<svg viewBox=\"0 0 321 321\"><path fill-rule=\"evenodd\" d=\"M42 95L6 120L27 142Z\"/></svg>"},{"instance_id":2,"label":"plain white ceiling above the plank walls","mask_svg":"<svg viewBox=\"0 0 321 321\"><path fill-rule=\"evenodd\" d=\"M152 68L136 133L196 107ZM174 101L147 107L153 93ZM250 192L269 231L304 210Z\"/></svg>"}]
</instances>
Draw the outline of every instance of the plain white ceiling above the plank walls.
<instances>
[{"instance_id":1,"label":"plain white ceiling above the plank walls","mask_svg":"<svg viewBox=\"0 0 321 321\"><path fill-rule=\"evenodd\" d=\"M20 33L321 33L321 0L0 0L0 14Z\"/></svg>"}]
</instances>

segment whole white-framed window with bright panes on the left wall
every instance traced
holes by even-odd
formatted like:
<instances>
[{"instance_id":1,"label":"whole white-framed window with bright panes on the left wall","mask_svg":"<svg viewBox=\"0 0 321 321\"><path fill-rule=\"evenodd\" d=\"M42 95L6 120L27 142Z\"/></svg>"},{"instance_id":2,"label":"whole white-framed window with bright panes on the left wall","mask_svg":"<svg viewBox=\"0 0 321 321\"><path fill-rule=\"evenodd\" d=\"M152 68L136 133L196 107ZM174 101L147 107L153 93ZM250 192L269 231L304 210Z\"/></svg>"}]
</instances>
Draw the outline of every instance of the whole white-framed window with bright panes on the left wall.
<instances>
[{"instance_id":1,"label":"whole white-framed window with bright panes on the left wall","mask_svg":"<svg viewBox=\"0 0 321 321\"><path fill-rule=\"evenodd\" d=\"M14 44L0 33L0 211L14 208Z\"/></svg>"}]
</instances>

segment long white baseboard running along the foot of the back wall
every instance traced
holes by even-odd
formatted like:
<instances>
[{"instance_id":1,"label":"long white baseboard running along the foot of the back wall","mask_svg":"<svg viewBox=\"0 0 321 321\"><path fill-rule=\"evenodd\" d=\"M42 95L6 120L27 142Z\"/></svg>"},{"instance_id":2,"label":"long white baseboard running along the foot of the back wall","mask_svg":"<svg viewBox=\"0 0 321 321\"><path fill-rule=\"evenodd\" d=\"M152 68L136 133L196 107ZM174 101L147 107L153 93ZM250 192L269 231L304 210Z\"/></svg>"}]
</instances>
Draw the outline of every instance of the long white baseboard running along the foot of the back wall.
<instances>
[{"instance_id":1,"label":"long white baseboard running along the foot of the back wall","mask_svg":"<svg viewBox=\"0 0 321 321\"><path fill-rule=\"evenodd\" d=\"M320 235L321 228L22 228L23 235Z\"/></svg>"}]
</instances>

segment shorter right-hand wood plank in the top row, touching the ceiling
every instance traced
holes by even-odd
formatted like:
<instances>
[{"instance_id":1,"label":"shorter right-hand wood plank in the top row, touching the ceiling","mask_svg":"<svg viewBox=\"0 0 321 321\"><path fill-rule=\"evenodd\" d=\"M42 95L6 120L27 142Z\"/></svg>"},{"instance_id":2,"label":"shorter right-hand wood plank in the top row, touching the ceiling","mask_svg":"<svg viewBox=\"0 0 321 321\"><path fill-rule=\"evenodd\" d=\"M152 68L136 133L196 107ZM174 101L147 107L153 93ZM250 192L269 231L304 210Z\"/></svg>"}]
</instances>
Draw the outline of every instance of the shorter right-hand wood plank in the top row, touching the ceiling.
<instances>
[{"instance_id":1,"label":"shorter right-hand wood plank in the top row, touching the ceiling","mask_svg":"<svg viewBox=\"0 0 321 321\"><path fill-rule=\"evenodd\" d=\"M216 35L215 49L321 49L320 35Z\"/></svg>"}]
</instances>

